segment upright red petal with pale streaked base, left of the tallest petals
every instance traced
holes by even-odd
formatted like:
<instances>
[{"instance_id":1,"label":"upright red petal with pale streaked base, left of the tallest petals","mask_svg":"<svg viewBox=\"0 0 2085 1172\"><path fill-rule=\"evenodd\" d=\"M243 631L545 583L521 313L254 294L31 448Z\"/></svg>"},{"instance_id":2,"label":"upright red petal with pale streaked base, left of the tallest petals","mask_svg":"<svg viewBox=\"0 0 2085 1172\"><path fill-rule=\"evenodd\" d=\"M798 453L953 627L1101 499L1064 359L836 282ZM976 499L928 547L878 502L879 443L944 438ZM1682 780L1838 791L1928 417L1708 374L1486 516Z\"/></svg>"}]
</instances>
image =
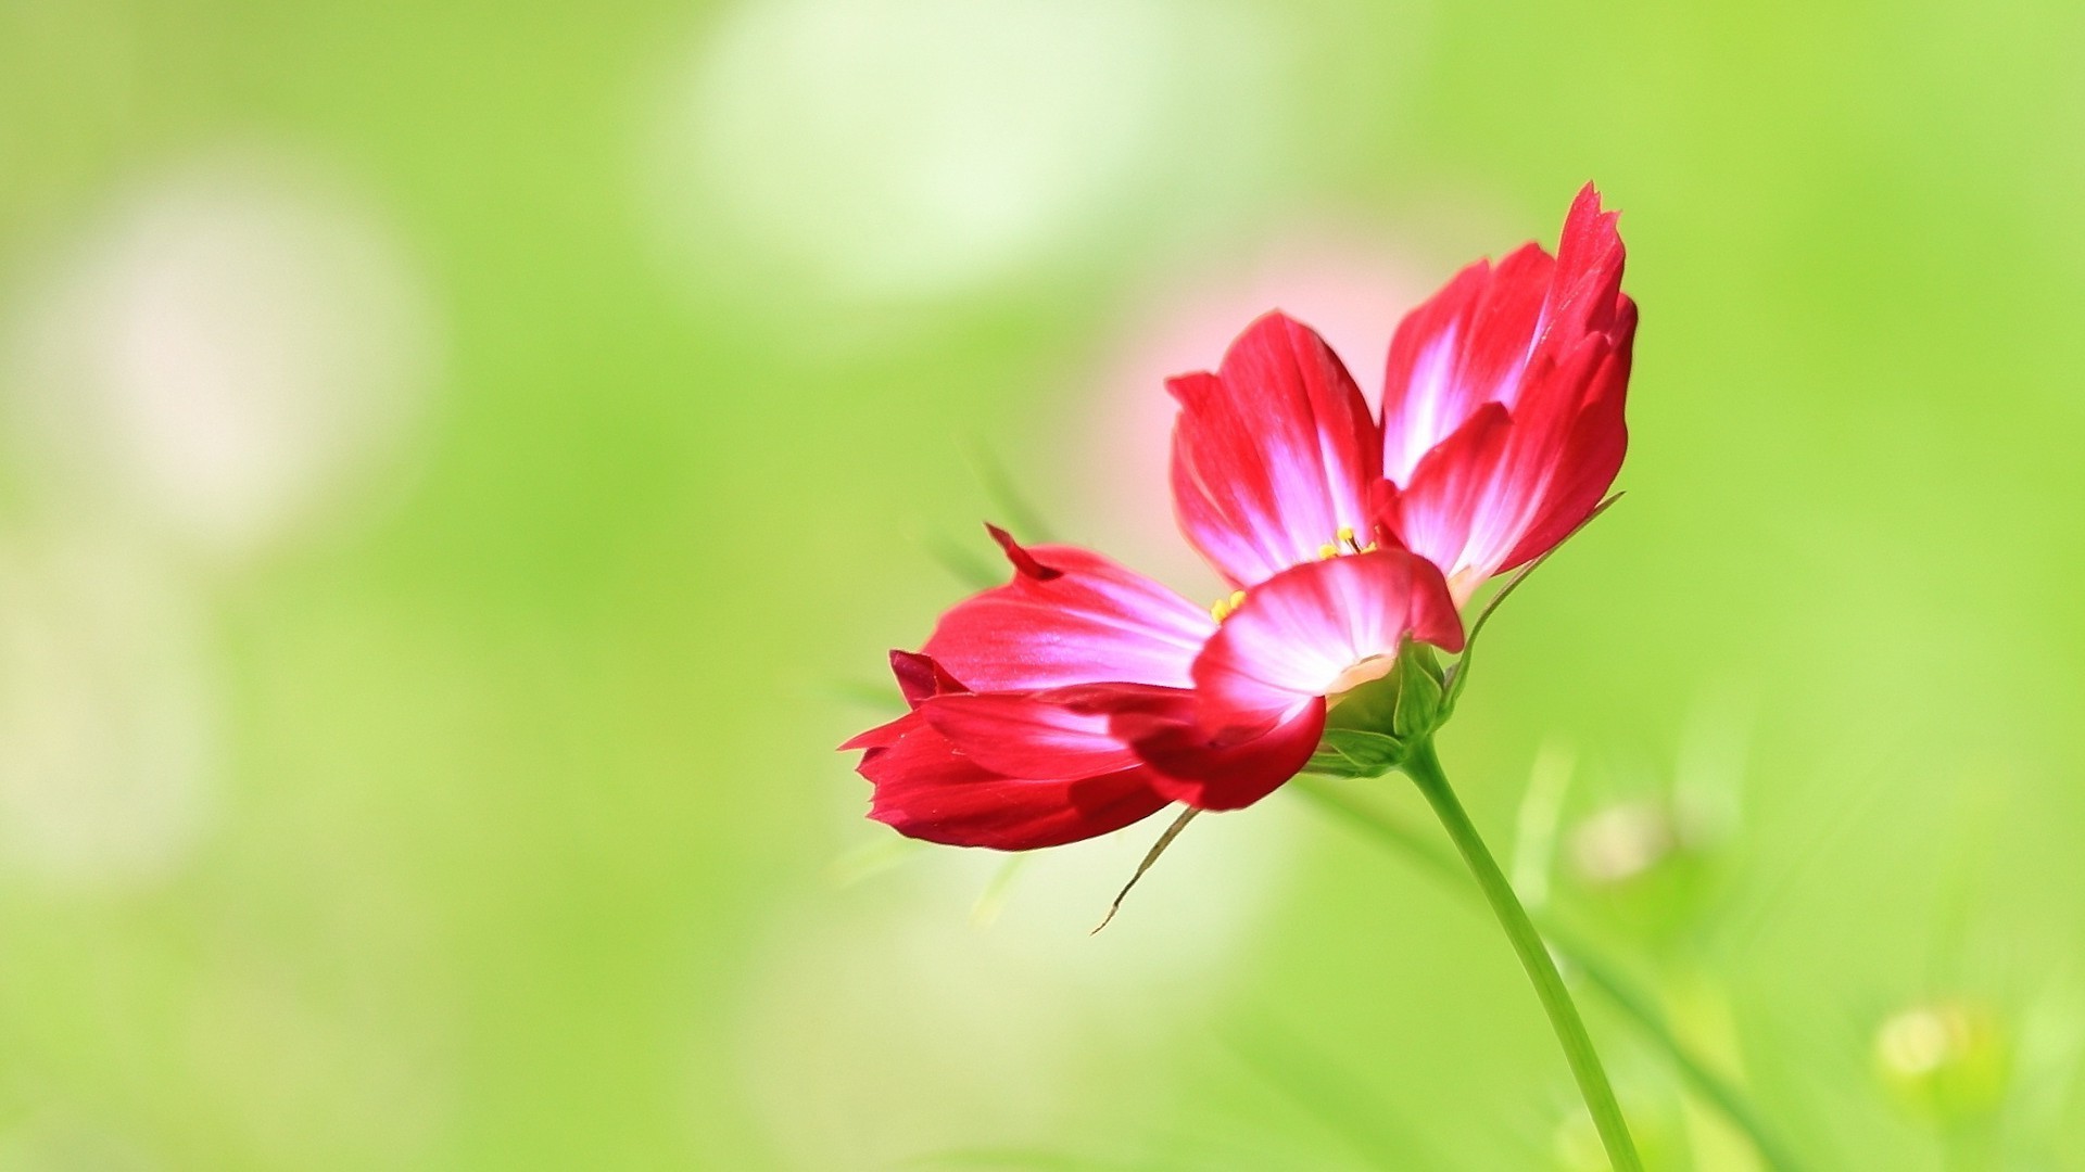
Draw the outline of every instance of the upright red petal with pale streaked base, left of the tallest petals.
<instances>
[{"instance_id":1,"label":"upright red petal with pale streaked base, left of the tallest petals","mask_svg":"<svg viewBox=\"0 0 2085 1172\"><path fill-rule=\"evenodd\" d=\"M1368 523L1382 440L1353 375L1307 325L1270 313L1216 373L1168 382L1174 511L1234 586L1318 557L1341 528Z\"/></svg>"}]
</instances>

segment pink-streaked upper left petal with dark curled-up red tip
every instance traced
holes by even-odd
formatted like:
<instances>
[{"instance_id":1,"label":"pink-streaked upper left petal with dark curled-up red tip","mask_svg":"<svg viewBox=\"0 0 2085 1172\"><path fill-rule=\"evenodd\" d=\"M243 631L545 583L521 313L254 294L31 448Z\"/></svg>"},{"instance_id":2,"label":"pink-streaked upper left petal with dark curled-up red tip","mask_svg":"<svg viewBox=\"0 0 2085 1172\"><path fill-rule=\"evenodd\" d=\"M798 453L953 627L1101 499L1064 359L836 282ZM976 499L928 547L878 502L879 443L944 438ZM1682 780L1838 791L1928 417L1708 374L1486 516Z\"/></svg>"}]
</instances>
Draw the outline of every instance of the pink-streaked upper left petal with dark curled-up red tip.
<instances>
[{"instance_id":1,"label":"pink-streaked upper left petal with dark curled-up red tip","mask_svg":"<svg viewBox=\"0 0 2085 1172\"><path fill-rule=\"evenodd\" d=\"M957 603L924 655L978 692L1065 684L1188 686L1216 630L1207 611L1166 586L1076 546L1024 548L992 530L1013 582Z\"/></svg>"}]
</instances>

